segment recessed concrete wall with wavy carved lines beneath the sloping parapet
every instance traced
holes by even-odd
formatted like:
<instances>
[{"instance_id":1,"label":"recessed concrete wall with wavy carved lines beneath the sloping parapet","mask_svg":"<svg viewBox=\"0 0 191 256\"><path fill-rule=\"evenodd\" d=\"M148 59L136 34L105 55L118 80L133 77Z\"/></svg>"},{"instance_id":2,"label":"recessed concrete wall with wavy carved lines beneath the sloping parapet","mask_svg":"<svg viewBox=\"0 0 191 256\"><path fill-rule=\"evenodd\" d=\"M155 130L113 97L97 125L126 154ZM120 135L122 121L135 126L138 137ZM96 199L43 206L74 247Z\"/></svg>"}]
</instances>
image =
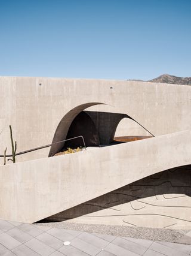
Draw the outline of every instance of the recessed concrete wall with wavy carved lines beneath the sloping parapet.
<instances>
[{"instance_id":1,"label":"recessed concrete wall with wavy carved lines beneath the sloping parapet","mask_svg":"<svg viewBox=\"0 0 191 256\"><path fill-rule=\"evenodd\" d=\"M191 165L162 171L44 221L191 229L190 171Z\"/></svg>"}]
</instances>

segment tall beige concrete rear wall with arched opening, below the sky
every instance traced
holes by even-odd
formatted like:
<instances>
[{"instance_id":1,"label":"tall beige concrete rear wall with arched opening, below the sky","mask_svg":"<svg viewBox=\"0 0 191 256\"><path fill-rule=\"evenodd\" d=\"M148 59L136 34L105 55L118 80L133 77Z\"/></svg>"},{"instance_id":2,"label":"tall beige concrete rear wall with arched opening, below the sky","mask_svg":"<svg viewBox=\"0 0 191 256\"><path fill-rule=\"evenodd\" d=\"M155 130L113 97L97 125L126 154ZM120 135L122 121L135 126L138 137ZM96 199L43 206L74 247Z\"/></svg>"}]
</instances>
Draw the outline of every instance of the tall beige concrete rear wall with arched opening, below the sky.
<instances>
[{"instance_id":1,"label":"tall beige concrete rear wall with arched opening, below the sky","mask_svg":"<svg viewBox=\"0 0 191 256\"><path fill-rule=\"evenodd\" d=\"M0 155L5 147L8 147L7 153L11 153L8 125L12 125L18 152L42 146L53 141L63 116L85 103L108 104L88 110L130 115L154 135L191 129L190 86L120 80L0 77ZM131 124L130 129L128 125L119 124L116 132L132 135L134 131L140 132L137 124ZM149 135L142 131L143 134L134 135ZM49 150L18 156L17 161L47 157ZM2 159L0 161L2 164Z\"/></svg>"}]
</instances>

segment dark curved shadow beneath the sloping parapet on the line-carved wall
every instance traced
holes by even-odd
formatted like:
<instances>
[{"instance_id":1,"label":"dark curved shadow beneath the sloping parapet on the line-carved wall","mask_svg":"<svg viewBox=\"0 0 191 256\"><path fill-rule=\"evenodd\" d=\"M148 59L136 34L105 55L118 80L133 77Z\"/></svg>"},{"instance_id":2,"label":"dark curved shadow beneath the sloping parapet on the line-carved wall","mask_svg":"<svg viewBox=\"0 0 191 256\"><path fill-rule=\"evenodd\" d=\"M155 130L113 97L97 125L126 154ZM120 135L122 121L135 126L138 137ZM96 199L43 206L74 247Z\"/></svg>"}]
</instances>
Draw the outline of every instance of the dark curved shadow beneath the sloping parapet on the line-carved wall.
<instances>
[{"instance_id":1,"label":"dark curved shadow beneath the sloping parapet on the line-carved wall","mask_svg":"<svg viewBox=\"0 0 191 256\"><path fill-rule=\"evenodd\" d=\"M163 195L168 200L171 199L170 194L176 194L176 198L178 194L180 197L184 195L191 196L191 165L184 165L153 174L152 176L137 180L130 185L123 186L93 200L86 201L78 206L42 219L39 222L66 221L103 209L112 208L119 204L141 200L141 198L155 196L157 199L158 195ZM131 207L133 207L132 204Z\"/></svg>"}]
</instances>

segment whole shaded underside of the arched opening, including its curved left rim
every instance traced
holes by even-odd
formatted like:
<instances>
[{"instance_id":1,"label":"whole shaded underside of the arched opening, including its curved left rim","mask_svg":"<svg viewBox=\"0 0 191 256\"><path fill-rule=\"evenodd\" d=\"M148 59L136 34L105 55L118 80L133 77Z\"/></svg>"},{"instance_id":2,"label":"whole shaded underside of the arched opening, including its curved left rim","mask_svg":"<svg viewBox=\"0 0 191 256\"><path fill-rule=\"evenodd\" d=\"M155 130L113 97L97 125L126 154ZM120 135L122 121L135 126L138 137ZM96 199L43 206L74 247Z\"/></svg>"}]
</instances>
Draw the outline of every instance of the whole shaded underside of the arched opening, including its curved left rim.
<instances>
[{"instance_id":1,"label":"whole shaded underside of the arched opening, including its curved left rim","mask_svg":"<svg viewBox=\"0 0 191 256\"><path fill-rule=\"evenodd\" d=\"M103 103L86 103L70 110L58 124L52 143L82 135L86 146L108 145L113 143L116 128L124 118L129 118L146 129L126 114L84 111L88 107L98 104ZM148 130L146 129L146 131ZM151 132L149 133L154 136ZM56 153L67 149L67 147L73 148L79 146L84 146L81 138L53 144L48 156L54 156Z\"/></svg>"}]
</instances>

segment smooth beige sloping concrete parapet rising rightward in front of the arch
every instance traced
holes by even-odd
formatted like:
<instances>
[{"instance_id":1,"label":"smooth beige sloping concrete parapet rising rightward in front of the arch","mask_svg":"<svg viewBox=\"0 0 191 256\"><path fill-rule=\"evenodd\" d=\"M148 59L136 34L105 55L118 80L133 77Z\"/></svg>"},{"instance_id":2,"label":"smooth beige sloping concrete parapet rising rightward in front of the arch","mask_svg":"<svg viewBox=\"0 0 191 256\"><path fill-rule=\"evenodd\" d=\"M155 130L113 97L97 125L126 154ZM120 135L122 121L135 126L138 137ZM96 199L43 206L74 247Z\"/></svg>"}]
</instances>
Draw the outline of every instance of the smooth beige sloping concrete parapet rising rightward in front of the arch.
<instances>
[{"instance_id":1,"label":"smooth beige sloping concrete parapet rising rightward in front of the arch","mask_svg":"<svg viewBox=\"0 0 191 256\"><path fill-rule=\"evenodd\" d=\"M0 166L0 218L36 222L169 168L191 164L191 131Z\"/></svg>"}]
</instances>

